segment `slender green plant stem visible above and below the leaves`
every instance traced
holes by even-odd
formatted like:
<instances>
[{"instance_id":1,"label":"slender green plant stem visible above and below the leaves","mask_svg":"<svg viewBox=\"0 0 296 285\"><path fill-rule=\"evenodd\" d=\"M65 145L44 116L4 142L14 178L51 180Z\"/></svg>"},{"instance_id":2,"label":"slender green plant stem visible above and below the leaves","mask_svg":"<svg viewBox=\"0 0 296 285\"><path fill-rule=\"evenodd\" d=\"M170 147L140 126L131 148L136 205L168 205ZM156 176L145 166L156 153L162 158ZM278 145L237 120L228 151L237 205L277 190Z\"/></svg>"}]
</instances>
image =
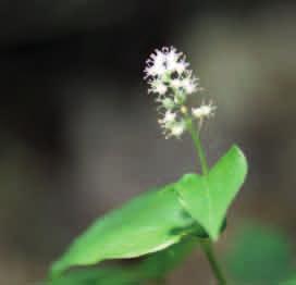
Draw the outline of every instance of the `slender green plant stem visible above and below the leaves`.
<instances>
[{"instance_id":1,"label":"slender green plant stem visible above and below the leaves","mask_svg":"<svg viewBox=\"0 0 296 285\"><path fill-rule=\"evenodd\" d=\"M197 128L195 127L195 125L193 124L193 121L190 119L187 120L187 127L188 131L192 135L192 138L194 140L194 145L197 151L197 156L199 158L200 164L201 164L201 172L202 175L207 175L209 173L209 166L208 166L208 162L207 162L207 158L206 158L206 153L203 151L200 138L199 138L199 132L197 131ZM213 245L212 241L210 239L201 239L200 240L201 244L201 248L211 265L211 270L218 281L219 285L226 285L226 278L224 277L224 274L221 271L221 268L217 261L217 258L214 256L214 251L213 251Z\"/></svg>"}]
</instances>

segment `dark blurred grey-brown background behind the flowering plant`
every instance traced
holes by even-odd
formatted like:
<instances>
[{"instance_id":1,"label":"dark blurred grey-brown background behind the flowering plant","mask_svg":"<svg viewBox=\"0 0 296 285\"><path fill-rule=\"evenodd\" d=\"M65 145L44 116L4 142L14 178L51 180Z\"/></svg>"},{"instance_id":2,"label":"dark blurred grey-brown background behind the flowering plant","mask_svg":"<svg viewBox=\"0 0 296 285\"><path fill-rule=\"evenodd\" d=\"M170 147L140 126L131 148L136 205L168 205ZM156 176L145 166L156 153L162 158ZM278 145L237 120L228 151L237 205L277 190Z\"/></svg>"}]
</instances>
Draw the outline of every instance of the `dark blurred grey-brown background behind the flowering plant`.
<instances>
[{"instance_id":1,"label":"dark blurred grey-brown background behind the flowering plant","mask_svg":"<svg viewBox=\"0 0 296 285\"><path fill-rule=\"evenodd\" d=\"M42 278L98 215L196 168L165 140L143 82L155 48L184 51L218 104L213 163L234 141L249 176L243 219L296 237L296 10L285 1L0 1L0 284ZM170 284L210 284L196 253Z\"/></svg>"}]
</instances>

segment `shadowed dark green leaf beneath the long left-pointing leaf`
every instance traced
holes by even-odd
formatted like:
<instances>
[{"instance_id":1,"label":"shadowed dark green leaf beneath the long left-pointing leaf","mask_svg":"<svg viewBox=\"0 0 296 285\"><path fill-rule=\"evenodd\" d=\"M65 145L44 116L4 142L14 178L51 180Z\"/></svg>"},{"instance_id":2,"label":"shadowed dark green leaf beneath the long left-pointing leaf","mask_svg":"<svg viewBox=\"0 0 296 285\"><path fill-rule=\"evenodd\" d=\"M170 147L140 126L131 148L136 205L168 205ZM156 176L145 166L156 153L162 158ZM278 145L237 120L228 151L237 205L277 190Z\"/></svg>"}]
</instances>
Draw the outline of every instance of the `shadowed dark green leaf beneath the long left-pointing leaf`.
<instances>
[{"instance_id":1,"label":"shadowed dark green leaf beneath the long left-pointing leaf","mask_svg":"<svg viewBox=\"0 0 296 285\"><path fill-rule=\"evenodd\" d=\"M42 285L136 285L165 277L197 246L196 237L185 237L166 249L148 255L139 264L77 270Z\"/></svg>"}]
</instances>

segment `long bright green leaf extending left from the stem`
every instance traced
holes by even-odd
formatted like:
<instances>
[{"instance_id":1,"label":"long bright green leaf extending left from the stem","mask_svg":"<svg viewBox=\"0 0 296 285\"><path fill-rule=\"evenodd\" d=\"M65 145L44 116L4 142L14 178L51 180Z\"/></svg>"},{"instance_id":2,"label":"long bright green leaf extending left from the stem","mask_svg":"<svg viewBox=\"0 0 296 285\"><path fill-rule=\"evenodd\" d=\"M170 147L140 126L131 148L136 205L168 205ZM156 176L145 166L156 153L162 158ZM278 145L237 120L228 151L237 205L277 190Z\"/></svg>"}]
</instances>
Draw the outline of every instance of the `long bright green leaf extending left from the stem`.
<instances>
[{"instance_id":1,"label":"long bright green leaf extending left from the stem","mask_svg":"<svg viewBox=\"0 0 296 285\"><path fill-rule=\"evenodd\" d=\"M51 275L74 265L159 251L193 232L205 236L203 230L180 205L174 185L169 185L148 191L96 221L53 263Z\"/></svg>"}]
</instances>

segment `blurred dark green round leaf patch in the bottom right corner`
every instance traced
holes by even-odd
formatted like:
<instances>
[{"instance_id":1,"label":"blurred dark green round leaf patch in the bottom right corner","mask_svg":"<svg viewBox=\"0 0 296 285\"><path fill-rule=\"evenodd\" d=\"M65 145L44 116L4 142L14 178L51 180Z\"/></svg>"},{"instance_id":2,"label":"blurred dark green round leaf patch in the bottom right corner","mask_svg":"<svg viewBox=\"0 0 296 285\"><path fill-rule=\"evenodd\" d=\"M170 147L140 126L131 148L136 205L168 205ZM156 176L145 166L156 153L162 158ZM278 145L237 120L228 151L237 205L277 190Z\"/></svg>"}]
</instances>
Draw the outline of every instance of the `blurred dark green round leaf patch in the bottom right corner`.
<instances>
[{"instance_id":1,"label":"blurred dark green round leaf patch in the bottom right corner","mask_svg":"<svg viewBox=\"0 0 296 285\"><path fill-rule=\"evenodd\" d=\"M235 284L293 284L294 252L288 237L279 230L244 225L232 238L224 264ZM294 283L296 285L296 283Z\"/></svg>"}]
</instances>

